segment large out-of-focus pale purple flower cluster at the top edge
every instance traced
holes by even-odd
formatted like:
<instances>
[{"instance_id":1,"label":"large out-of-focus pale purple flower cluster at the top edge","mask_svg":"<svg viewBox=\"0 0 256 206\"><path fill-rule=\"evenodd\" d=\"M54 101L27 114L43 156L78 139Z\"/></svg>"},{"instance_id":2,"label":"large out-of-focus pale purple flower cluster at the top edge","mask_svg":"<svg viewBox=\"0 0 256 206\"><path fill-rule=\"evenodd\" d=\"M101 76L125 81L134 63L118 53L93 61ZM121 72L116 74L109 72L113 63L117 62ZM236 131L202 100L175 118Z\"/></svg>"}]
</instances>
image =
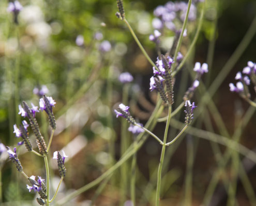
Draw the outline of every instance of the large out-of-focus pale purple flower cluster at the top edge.
<instances>
[{"instance_id":1,"label":"large out-of-focus pale purple flower cluster at the top edge","mask_svg":"<svg viewBox=\"0 0 256 206\"><path fill-rule=\"evenodd\" d=\"M156 18L152 25L155 29L162 29L164 26L174 32L180 32L180 23L185 20L188 3L185 2L167 2L164 6L158 6L154 10ZM197 18L197 8L192 3L190 6L188 21L194 21Z\"/></svg>"}]
</instances>

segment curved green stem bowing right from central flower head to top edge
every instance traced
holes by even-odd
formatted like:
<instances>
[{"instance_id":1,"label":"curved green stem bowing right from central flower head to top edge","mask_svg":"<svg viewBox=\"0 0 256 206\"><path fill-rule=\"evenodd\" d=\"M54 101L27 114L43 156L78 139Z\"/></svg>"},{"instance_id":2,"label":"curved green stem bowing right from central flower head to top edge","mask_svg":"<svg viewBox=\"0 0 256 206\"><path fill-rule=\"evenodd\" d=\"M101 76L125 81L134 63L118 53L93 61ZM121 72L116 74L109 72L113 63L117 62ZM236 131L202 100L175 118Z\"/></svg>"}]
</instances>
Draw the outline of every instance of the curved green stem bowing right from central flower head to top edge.
<instances>
[{"instance_id":1,"label":"curved green stem bowing right from central flower head to top edge","mask_svg":"<svg viewBox=\"0 0 256 206\"><path fill-rule=\"evenodd\" d=\"M203 6L203 9L202 9L201 14L200 14L199 24L198 24L198 27L197 27L197 31L195 32L193 41L192 41L192 43L191 43L191 45L190 45L190 47L188 49L188 52L187 52L186 56L183 58L182 62L180 62L180 64L176 68L176 70L172 73L173 76L175 76L177 74L177 72L183 67L184 63L187 61L188 57L192 53L192 50L193 50L193 48L195 46L195 43L197 43L197 40L198 40L198 37L199 37L199 33L201 31L202 24L203 24L205 5L206 5L206 0L204 1L204 6Z\"/></svg>"}]
</instances>

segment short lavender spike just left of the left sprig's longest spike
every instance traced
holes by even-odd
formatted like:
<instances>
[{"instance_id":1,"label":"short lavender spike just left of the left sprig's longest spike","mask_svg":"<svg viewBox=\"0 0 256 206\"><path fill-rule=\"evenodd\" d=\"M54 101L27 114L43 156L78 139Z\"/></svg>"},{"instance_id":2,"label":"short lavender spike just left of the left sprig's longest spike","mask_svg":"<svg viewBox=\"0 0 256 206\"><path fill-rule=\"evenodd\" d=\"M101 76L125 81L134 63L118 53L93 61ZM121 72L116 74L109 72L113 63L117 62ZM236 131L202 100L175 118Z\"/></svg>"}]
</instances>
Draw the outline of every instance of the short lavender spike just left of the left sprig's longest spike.
<instances>
[{"instance_id":1,"label":"short lavender spike just left of the left sprig's longest spike","mask_svg":"<svg viewBox=\"0 0 256 206\"><path fill-rule=\"evenodd\" d=\"M22 125L18 128L17 125L13 125L13 133L16 134L17 138L22 138L22 141L18 143L18 145L22 145L25 143L25 146L28 151L32 151L32 145L28 138L28 124L25 120L22 121Z\"/></svg>"}]
</instances>

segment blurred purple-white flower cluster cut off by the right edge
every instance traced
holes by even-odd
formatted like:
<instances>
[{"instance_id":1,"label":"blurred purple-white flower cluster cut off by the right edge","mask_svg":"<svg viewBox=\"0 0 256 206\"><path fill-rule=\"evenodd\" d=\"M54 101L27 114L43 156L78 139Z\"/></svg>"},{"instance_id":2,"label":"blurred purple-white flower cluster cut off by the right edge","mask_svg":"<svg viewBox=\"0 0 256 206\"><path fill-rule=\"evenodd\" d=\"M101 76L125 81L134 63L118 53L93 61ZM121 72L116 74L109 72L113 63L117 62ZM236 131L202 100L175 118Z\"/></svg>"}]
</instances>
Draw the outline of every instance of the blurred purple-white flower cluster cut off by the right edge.
<instances>
[{"instance_id":1,"label":"blurred purple-white flower cluster cut off by the right edge","mask_svg":"<svg viewBox=\"0 0 256 206\"><path fill-rule=\"evenodd\" d=\"M234 83L230 83L230 91L236 92L243 98L250 98L250 92L248 85L253 83L254 90L256 92L256 64L252 61L247 62L247 66L243 68L242 73L237 72L235 76L235 80L237 80L236 85Z\"/></svg>"}]
</instances>

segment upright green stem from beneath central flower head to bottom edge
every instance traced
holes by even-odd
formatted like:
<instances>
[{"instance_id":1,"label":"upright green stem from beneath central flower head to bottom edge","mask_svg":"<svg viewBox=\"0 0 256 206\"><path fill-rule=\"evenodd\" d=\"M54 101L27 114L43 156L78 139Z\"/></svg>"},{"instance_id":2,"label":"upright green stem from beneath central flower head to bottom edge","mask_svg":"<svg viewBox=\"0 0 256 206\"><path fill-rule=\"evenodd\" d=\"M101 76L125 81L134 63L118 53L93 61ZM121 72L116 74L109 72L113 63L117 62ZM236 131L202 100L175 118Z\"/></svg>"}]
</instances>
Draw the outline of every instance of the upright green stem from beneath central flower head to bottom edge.
<instances>
[{"instance_id":1,"label":"upright green stem from beneath central flower head to bottom edge","mask_svg":"<svg viewBox=\"0 0 256 206\"><path fill-rule=\"evenodd\" d=\"M172 113L172 107L169 106L168 108L168 118L167 122L165 125L165 131L164 131L164 136L163 136L163 145L162 145L162 152L161 152L161 157L160 157L160 162L158 166L158 173L157 173L157 190L156 190L156 206L159 205L160 201L160 188L161 188L161 176L162 176L162 166L163 166L163 159L164 159L164 152L165 152L165 146L166 146L166 141L167 141L167 134L168 134L168 129L170 125L170 119L171 119L171 113Z\"/></svg>"}]
</instances>

